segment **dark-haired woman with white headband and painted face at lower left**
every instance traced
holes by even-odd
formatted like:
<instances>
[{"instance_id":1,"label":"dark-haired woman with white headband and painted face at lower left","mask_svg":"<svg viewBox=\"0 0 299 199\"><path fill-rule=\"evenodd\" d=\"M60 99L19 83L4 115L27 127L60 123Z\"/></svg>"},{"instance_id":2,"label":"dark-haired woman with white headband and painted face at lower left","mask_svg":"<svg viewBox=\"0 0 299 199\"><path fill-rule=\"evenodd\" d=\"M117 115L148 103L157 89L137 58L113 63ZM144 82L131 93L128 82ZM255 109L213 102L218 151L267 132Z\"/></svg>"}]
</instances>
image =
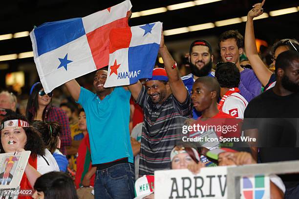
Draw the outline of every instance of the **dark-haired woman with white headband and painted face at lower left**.
<instances>
[{"instance_id":1,"label":"dark-haired woman with white headband and painted face at lower left","mask_svg":"<svg viewBox=\"0 0 299 199\"><path fill-rule=\"evenodd\" d=\"M29 127L25 117L14 114L4 118L0 124L0 153L19 153L31 151L28 163L21 179L21 189L32 189L38 177L45 169L44 145L39 134ZM31 196L19 199L31 199Z\"/></svg>"}]
</instances>

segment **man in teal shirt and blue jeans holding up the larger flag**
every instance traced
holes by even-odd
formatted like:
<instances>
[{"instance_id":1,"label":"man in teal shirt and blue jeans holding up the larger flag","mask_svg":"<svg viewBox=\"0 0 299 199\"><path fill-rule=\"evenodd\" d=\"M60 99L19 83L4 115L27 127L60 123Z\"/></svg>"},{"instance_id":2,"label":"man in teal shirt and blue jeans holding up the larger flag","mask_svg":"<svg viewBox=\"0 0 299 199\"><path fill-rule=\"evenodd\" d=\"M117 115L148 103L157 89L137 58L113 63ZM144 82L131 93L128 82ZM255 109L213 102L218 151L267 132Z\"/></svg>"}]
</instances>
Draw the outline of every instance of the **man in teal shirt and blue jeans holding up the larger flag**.
<instances>
[{"instance_id":1,"label":"man in teal shirt and blue jeans holding up the larger flag","mask_svg":"<svg viewBox=\"0 0 299 199\"><path fill-rule=\"evenodd\" d=\"M134 165L129 135L130 92L123 87L104 88L107 69L94 76L96 93L80 87L76 80L65 83L86 114L91 161L97 167L95 199L133 199Z\"/></svg>"}]
</instances>

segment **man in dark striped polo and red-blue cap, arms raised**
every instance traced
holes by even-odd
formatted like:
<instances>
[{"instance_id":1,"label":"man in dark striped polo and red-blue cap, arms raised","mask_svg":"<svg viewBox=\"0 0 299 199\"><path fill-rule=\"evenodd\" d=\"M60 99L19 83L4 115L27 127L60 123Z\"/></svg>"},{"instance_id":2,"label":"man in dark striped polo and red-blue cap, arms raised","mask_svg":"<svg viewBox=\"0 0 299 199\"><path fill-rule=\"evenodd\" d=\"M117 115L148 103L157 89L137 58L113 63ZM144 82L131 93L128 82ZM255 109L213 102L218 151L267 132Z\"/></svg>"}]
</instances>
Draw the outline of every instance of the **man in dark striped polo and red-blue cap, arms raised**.
<instances>
[{"instance_id":1,"label":"man in dark striped polo and red-blue cap, arms raised","mask_svg":"<svg viewBox=\"0 0 299 199\"><path fill-rule=\"evenodd\" d=\"M140 81L128 86L144 111L139 176L171 169L171 150L183 136L184 120L192 117L191 98L179 76L176 62L164 45L163 35L159 51L166 70L154 69L146 86L142 86Z\"/></svg>"}]
</instances>

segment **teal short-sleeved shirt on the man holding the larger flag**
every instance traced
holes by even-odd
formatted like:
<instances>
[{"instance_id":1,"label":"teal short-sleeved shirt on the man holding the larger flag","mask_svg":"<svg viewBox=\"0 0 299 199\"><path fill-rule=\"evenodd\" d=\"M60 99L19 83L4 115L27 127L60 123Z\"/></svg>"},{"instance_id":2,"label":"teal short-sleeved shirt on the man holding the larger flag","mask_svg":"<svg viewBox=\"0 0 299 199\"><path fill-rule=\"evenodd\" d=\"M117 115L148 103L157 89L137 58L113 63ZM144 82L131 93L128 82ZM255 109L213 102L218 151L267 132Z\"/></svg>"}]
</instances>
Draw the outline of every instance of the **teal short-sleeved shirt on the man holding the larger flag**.
<instances>
[{"instance_id":1,"label":"teal short-sleeved shirt on the man holding the larger flag","mask_svg":"<svg viewBox=\"0 0 299 199\"><path fill-rule=\"evenodd\" d=\"M130 144L130 92L115 87L103 100L81 87L78 103L86 115L92 164L101 164L128 157L133 163Z\"/></svg>"}]
</instances>

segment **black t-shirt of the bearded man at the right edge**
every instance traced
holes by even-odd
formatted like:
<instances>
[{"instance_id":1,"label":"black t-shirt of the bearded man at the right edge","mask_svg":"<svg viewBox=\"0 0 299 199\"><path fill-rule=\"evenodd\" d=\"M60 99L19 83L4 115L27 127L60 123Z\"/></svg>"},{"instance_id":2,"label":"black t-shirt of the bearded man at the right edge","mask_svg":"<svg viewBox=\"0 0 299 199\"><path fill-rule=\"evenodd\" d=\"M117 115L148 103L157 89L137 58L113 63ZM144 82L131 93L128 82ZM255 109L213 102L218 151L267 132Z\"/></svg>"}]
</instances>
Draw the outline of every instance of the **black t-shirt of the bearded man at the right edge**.
<instances>
[{"instance_id":1,"label":"black t-shirt of the bearded man at the right edge","mask_svg":"<svg viewBox=\"0 0 299 199\"><path fill-rule=\"evenodd\" d=\"M264 146L259 152L262 163L299 160L298 126L299 92L278 96L271 88L251 100L244 112L245 129L257 128L258 138L262 138L258 139L259 146ZM290 180L299 184L296 178Z\"/></svg>"}]
</instances>

